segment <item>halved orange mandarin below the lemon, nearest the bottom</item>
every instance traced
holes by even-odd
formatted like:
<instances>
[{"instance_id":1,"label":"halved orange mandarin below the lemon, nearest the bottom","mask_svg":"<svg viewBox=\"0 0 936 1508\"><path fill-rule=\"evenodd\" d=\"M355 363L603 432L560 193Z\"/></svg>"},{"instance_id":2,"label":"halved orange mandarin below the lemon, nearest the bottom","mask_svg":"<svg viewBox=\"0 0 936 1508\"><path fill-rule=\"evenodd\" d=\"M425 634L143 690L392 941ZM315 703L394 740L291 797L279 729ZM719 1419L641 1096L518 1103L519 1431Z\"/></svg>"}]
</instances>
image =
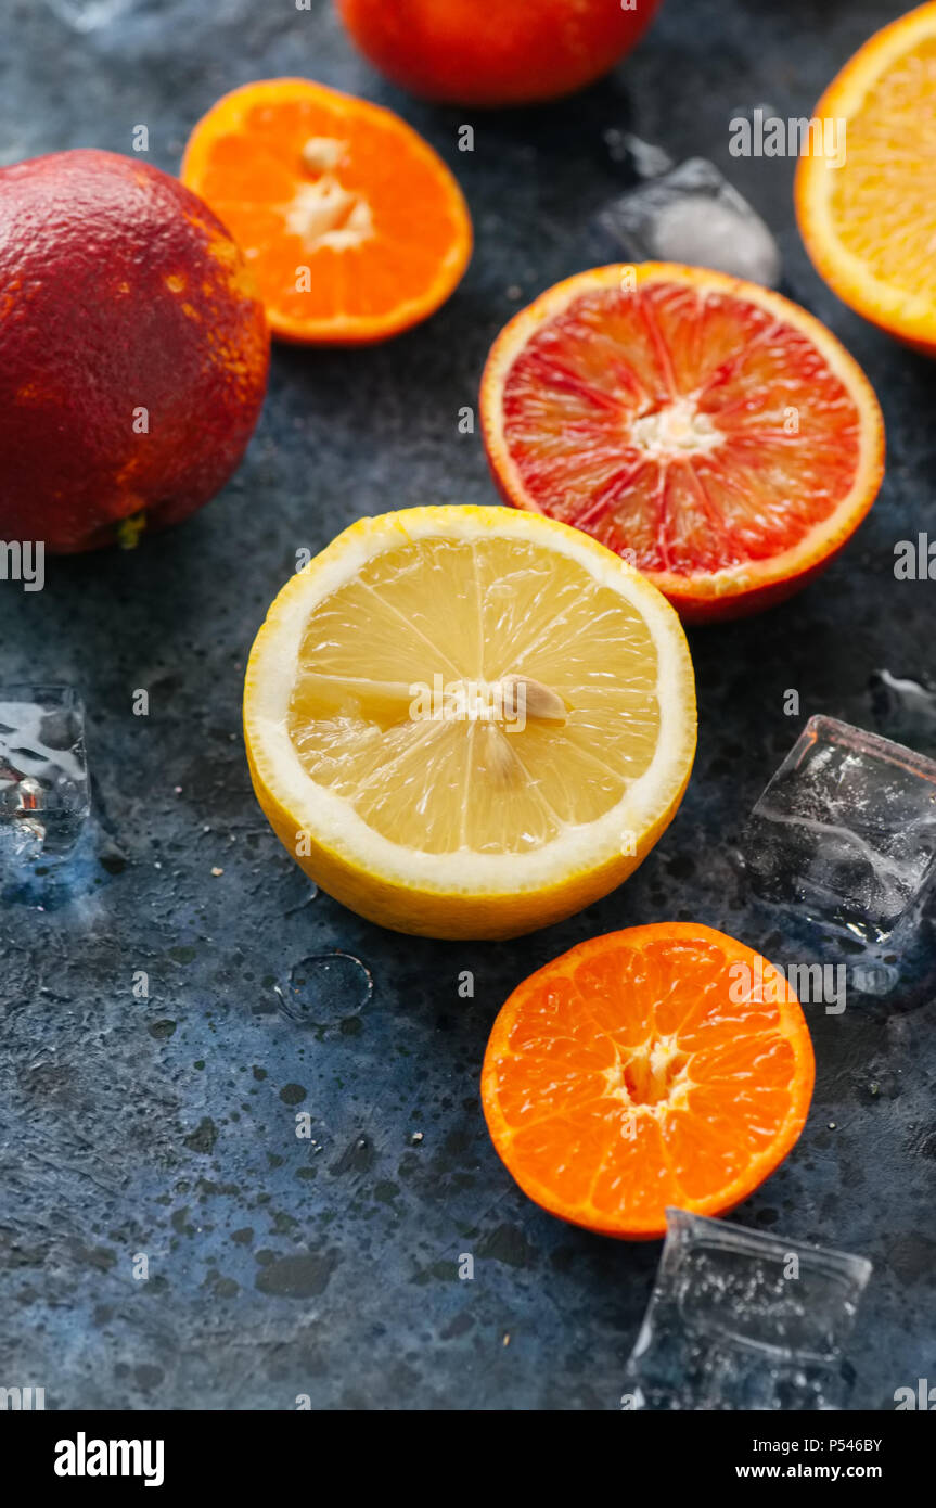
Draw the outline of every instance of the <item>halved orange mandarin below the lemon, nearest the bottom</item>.
<instances>
[{"instance_id":1,"label":"halved orange mandarin below the lemon, nearest the bottom","mask_svg":"<svg viewBox=\"0 0 936 1508\"><path fill-rule=\"evenodd\" d=\"M512 992L481 1096L531 1199L653 1240L666 1206L733 1209L803 1129L815 1063L799 1001L760 953L698 923L580 942Z\"/></svg>"}]
</instances>

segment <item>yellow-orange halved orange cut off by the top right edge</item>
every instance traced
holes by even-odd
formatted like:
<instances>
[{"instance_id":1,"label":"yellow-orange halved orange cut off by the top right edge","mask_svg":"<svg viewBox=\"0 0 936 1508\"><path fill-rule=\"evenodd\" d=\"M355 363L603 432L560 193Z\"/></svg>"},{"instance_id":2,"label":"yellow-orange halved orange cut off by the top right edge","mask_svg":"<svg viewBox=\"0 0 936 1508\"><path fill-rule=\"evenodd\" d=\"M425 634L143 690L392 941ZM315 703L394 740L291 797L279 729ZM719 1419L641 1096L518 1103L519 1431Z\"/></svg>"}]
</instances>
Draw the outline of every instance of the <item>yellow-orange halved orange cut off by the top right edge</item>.
<instances>
[{"instance_id":1,"label":"yellow-orange halved orange cut off by the top right edge","mask_svg":"<svg viewBox=\"0 0 936 1508\"><path fill-rule=\"evenodd\" d=\"M812 112L844 157L805 152L796 216L829 287L865 320L936 356L936 5L885 26ZM817 142L818 145L818 142Z\"/></svg>"}]
</instances>

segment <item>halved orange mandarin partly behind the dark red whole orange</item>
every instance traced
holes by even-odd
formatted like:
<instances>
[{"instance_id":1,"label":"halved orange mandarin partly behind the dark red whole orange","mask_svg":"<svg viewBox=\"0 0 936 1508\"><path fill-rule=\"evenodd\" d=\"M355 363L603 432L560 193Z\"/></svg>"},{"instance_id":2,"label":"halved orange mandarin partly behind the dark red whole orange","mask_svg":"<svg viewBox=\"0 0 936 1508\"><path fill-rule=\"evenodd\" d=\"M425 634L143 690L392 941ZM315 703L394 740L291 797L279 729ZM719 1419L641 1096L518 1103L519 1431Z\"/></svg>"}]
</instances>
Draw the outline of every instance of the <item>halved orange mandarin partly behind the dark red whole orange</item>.
<instances>
[{"instance_id":1,"label":"halved orange mandarin partly behind the dark red whole orange","mask_svg":"<svg viewBox=\"0 0 936 1508\"><path fill-rule=\"evenodd\" d=\"M181 176L240 241L280 339L387 339L434 314L470 258L467 205L428 142L307 78L219 100Z\"/></svg>"}]
</instances>

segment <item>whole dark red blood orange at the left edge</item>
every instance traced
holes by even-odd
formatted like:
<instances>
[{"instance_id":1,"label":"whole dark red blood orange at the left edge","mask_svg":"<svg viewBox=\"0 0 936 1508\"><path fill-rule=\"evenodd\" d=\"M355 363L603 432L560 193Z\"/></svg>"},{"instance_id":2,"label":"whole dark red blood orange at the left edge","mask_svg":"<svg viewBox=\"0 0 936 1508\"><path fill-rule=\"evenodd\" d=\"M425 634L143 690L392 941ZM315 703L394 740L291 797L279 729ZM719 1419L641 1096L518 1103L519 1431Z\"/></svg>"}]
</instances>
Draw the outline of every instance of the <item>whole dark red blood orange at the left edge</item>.
<instances>
[{"instance_id":1,"label":"whole dark red blood orange at the left edge","mask_svg":"<svg viewBox=\"0 0 936 1508\"><path fill-rule=\"evenodd\" d=\"M225 226L113 152L0 169L0 537L89 550L228 481L270 336Z\"/></svg>"}]
</instances>

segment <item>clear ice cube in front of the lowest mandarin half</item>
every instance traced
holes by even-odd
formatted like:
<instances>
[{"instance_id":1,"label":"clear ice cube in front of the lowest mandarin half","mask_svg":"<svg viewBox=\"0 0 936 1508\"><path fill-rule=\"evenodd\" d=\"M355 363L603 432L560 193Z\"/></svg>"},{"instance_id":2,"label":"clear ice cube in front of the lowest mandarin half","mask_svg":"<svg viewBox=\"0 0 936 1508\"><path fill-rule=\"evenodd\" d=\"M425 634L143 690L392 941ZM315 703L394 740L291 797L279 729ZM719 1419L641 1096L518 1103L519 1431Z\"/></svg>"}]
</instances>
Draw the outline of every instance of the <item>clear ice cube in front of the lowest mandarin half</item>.
<instances>
[{"instance_id":1,"label":"clear ice cube in front of the lowest mandarin half","mask_svg":"<svg viewBox=\"0 0 936 1508\"><path fill-rule=\"evenodd\" d=\"M668 1209L624 1407L844 1407L841 1353L870 1274L862 1256Z\"/></svg>"}]
</instances>

